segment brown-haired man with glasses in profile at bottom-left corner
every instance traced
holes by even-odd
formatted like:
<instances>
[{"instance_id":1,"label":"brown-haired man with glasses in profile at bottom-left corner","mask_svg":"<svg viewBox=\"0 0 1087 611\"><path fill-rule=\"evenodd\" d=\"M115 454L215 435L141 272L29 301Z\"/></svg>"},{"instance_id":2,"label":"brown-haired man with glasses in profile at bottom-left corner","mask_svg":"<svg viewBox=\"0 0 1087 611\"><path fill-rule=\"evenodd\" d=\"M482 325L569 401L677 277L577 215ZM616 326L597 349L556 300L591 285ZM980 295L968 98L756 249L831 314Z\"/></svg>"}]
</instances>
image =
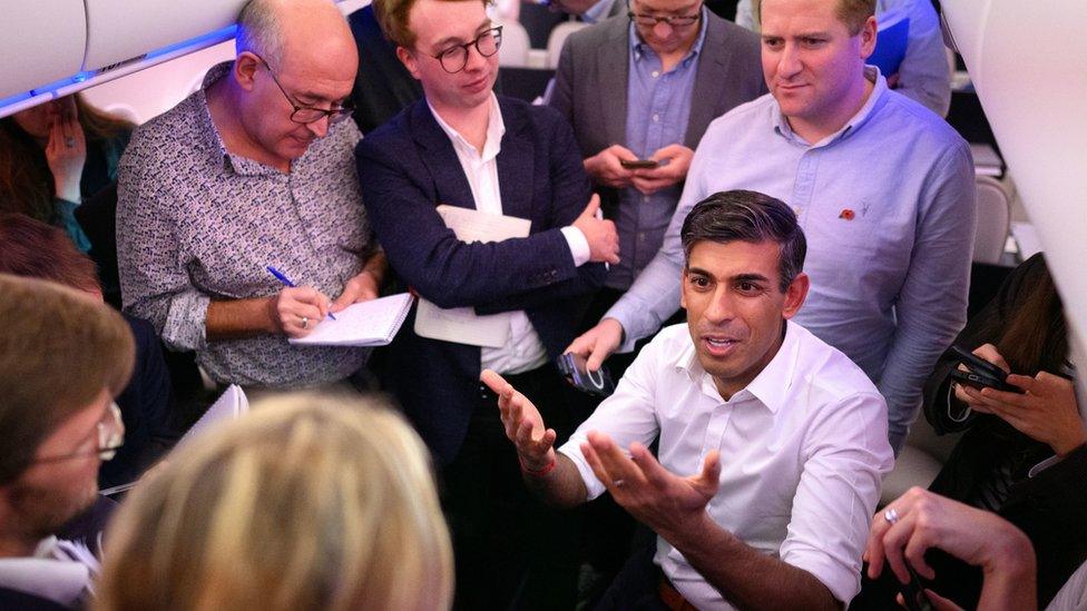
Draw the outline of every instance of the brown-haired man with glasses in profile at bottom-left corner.
<instances>
[{"instance_id":1,"label":"brown-haired man with glasses in profile at bottom-left corner","mask_svg":"<svg viewBox=\"0 0 1087 611\"><path fill-rule=\"evenodd\" d=\"M114 398L133 336L76 289L7 274L0 321L0 609L78 608L99 571L98 525L72 520L99 501L99 465L124 441Z\"/></svg>"}]
</instances>

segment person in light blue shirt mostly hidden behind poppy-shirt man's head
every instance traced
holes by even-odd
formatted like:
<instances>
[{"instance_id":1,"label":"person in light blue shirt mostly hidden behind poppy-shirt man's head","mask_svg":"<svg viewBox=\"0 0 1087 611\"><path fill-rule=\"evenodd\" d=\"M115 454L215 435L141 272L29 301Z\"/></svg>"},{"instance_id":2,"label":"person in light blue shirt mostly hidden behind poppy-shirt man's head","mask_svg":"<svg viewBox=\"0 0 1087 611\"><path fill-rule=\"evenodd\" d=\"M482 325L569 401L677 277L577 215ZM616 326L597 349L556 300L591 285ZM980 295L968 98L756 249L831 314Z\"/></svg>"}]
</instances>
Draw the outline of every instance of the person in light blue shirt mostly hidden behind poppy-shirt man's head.
<instances>
[{"instance_id":1,"label":"person in light blue shirt mostly hidden behind poppy-shirt man's head","mask_svg":"<svg viewBox=\"0 0 1087 611\"><path fill-rule=\"evenodd\" d=\"M758 31L757 0L740 0L736 23ZM904 12L910 20L905 57L898 73L884 75L892 89L947 117L951 108L951 67L948 65L940 16L931 0L877 0L875 16L882 20L891 12Z\"/></svg>"}]
</instances>

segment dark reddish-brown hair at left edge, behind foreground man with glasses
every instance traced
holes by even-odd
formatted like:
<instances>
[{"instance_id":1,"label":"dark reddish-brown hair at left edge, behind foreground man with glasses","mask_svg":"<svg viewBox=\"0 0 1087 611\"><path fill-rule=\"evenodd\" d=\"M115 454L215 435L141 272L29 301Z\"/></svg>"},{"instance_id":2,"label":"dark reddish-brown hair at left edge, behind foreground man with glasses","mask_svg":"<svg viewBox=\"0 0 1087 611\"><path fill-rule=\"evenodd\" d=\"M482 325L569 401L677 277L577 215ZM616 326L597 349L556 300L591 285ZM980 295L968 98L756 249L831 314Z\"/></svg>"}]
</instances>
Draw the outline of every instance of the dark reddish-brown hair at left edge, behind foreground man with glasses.
<instances>
[{"instance_id":1,"label":"dark reddish-brown hair at left edge, behind foreground man with glasses","mask_svg":"<svg viewBox=\"0 0 1087 611\"><path fill-rule=\"evenodd\" d=\"M0 213L0 274L101 292L95 262L63 229L14 213Z\"/></svg>"}]
</instances>

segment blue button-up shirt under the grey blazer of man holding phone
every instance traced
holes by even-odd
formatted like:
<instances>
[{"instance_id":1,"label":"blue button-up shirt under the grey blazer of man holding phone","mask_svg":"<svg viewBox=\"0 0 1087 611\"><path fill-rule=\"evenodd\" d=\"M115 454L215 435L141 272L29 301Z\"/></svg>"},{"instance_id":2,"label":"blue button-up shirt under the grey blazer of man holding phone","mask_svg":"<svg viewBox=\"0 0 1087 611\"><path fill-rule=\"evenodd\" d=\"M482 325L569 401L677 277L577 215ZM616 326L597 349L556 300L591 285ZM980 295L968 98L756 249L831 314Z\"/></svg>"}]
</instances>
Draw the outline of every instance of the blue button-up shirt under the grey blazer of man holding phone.
<instances>
[{"instance_id":1,"label":"blue button-up shirt under the grey blazer of man holding phone","mask_svg":"<svg viewBox=\"0 0 1087 611\"><path fill-rule=\"evenodd\" d=\"M662 148L683 144L691 117L691 96L698 71L698 56L706 38L705 7L698 38L679 63L664 71L660 58L638 37L630 23L630 55L627 68L626 146L639 159L648 159ZM642 195L634 187L619 193L618 217L621 260L611 266L605 285L626 290L634 278L653 260L660 248L665 229L683 193L683 184Z\"/></svg>"}]
</instances>

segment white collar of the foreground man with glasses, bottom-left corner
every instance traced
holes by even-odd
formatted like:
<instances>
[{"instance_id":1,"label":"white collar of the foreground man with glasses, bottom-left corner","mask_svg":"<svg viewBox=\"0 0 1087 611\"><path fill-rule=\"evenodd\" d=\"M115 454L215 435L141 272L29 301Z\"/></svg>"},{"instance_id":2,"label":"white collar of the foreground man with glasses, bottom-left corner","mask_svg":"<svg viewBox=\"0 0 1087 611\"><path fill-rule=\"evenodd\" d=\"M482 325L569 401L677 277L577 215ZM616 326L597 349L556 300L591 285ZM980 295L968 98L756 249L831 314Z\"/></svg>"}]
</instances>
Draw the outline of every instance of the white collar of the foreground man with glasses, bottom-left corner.
<instances>
[{"instance_id":1,"label":"white collar of the foreground man with glasses, bottom-left corner","mask_svg":"<svg viewBox=\"0 0 1087 611\"><path fill-rule=\"evenodd\" d=\"M38 544L30 558L0 559L0 585L71 607L90 589L90 568L81 562L55 560L58 544L50 536Z\"/></svg>"}]
</instances>

